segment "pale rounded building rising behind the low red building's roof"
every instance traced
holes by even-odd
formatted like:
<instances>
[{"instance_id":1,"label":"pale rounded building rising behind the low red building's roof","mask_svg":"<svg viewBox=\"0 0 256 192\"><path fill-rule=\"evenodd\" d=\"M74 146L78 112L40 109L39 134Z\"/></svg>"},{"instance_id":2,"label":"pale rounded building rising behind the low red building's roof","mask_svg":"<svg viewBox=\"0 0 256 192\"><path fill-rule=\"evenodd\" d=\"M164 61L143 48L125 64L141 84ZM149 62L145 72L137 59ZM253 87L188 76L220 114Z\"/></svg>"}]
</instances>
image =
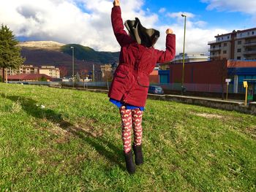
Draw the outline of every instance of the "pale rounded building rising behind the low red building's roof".
<instances>
[{"instance_id":1,"label":"pale rounded building rising behind the low red building's roof","mask_svg":"<svg viewBox=\"0 0 256 192\"><path fill-rule=\"evenodd\" d=\"M206 55L205 53L185 53L184 61L185 63L208 61L208 55ZM183 63L183 53L179 53L178 55L176 55L171 63Z\"/></svg>"}]
</instances>

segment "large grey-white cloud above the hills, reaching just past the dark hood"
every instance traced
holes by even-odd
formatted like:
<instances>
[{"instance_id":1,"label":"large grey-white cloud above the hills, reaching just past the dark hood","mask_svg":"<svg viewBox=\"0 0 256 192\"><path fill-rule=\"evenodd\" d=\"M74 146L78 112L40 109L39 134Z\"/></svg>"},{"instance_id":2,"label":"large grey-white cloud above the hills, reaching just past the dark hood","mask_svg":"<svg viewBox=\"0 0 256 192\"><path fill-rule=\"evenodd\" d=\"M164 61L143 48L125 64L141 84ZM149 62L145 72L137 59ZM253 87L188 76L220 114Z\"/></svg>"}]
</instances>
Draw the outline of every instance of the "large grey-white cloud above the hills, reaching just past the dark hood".
<instances>
[{"instance_id":1,"label":"large grey-white cloud above the hills, reaching just past the dark hood","mask_svg":"<svg viewBox=\"0 0 256 192\"><path fill-rule=\"evenodd\" d=\"M140 18L146 27L156 14L141 9L143 0L121 3L123 19ZM96 50L119 50L110 23L112 0L9 0L0 1L0 23L18 37L78 43Z\"/></svg>"}]
</instances>

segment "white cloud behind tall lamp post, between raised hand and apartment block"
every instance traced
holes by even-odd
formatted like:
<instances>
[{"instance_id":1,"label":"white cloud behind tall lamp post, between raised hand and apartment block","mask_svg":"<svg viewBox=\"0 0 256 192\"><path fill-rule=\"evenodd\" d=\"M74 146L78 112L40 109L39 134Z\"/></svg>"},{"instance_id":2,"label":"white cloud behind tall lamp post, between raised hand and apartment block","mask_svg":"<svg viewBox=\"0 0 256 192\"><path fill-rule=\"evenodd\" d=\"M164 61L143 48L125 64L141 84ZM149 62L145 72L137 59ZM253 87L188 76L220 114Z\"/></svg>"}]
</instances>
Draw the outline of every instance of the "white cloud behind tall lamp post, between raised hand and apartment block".
<instances>
[{"instance_id":1,"label":"white cloud behind tall lamp post, between raised hand and apartment block","mask_svg":"<svg viewBox=\"0 0 256 192\"><path fill-rule=\"evenodd\" d=\"M186 53L208 53L208 42L213 41L217 34L225 34L230 32L230 30L222 28L206 28L207 23L203 20L197 20L198 16L191 12L168 12L167 17L173 18L173 26L171 28L176 34L176 55L182 53L183 51L183 41L184 41L184 18L181 14L187 15L187 25L186 25L186 43L185 52ZM170 26L159 26L160 32L164 34L166 28ZM156 47L164 49L165 47L165 36L159 38Z\"/></svg>"}]
</instances>

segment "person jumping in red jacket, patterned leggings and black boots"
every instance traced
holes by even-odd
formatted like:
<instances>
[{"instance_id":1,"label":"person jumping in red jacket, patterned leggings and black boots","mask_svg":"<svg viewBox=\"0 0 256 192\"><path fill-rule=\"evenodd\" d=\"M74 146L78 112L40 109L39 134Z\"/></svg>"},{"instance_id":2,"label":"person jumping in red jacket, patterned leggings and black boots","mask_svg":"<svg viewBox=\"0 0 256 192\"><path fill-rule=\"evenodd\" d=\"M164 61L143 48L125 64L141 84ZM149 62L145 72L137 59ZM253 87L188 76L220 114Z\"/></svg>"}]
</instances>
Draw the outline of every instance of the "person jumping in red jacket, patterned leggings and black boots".
<instances>
[{"instance_id":1,"label":"person jumping in red jacket, patterned leggings and black boots","mask_svg":"<svg viewBox=\"0 0 256 192\"><path fill-rule=\"evenodd\" d=\"M140 20L127 20L124 31L119 0L113 1L111 22L116 39L121 46L119 65L113 77L108 96L120 110L122 140L127 171L135 173L135 164L143 164L141 126L144 106L148 94L149 74L157 63L171 61L175 57L176 36L173 30L166 30L166 50L154 49L159 31L144 28ZM132 129L134 143L132 143ZM135 153L135 164L132 149Z\"/></svg>"}]
</instances>

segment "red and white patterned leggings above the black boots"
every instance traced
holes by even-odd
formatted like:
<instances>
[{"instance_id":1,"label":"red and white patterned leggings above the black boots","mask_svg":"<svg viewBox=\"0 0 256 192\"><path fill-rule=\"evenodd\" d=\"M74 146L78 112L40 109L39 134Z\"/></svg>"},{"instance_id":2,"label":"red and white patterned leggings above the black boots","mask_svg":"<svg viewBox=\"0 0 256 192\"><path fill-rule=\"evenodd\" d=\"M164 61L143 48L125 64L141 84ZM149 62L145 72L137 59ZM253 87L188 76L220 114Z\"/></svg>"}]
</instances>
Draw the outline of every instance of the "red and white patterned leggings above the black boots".
<instances>
[{"instance_id":1,"label":"red and white patterned leggings above the black boots","mask_svg":"<svg viewBox=\"0 0 256 192\"><path fill-rule=\"evenodd\" d=\"M124 153L129 153L132 142L132 128L134 134L134 145L141 145L142 142L142 115L140 109L126 110L124 106L120 107L122 122L122 140L124 145Z\"/></svg>"}]
</instances>

